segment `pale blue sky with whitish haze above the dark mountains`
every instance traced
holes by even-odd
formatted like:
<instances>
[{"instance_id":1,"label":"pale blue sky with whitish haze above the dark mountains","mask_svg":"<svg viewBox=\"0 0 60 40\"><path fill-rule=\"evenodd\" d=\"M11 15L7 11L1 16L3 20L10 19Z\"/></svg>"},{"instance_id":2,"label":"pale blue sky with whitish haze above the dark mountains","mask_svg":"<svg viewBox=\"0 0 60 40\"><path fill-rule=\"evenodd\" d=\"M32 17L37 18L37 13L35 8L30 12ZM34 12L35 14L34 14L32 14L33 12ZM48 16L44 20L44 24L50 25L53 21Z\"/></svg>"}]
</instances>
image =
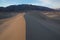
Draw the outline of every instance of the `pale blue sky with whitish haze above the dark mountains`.
<instances>
[{"instance_id":1,"label":"pale blue sky with whitish haze above the dark mountains","mask_svg":"<svg viewBox=\"0 0 60 40\"><path fill-rule=\"evenodd\" d=\"M60 0L0 0L0 6L33 4L50 8L60 8Z\"/></svg>"}]
</instances>

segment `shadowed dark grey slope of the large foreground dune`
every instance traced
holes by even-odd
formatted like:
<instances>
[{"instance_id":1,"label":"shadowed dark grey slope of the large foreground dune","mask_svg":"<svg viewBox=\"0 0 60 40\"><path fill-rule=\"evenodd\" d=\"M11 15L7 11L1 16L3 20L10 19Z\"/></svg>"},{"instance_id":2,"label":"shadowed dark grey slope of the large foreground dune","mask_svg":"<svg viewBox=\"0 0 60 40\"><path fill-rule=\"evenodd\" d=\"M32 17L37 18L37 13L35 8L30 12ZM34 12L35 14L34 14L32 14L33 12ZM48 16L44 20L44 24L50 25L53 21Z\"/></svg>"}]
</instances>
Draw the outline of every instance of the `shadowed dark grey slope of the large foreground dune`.
<instances>
[{"instance_id":1,"label":"shadowed dark grey slope of the large foreground dune","mask_svg":"<svg viewBox=\"0 0 60 40\"><path fill-rule=\"evenodd\" d=\"M60 40L60 25L37 15L25 15L27 40Z\"/></svg>"}]
</instances>

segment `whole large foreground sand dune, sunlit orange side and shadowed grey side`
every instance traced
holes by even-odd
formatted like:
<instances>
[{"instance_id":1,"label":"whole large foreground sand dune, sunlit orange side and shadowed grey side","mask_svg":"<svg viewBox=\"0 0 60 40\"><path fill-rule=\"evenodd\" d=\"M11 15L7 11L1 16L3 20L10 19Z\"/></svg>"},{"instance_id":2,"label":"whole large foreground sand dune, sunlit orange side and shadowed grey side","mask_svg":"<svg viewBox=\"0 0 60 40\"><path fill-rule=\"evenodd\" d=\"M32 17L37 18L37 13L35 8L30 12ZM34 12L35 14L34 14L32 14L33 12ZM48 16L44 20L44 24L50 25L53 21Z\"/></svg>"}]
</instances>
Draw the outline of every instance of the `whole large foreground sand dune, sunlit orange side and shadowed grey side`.
<instances>
[{"instance_id":1,"label":"whole large foreground sand dune, sunlit orange side and shadowed grey side","mask_svg":"<svg viewBox=\"0 0 60 40\"><path fill-rule=\"evenodd\" d=\"M38 11L19 13L2 21L0 40L60 40L60 25Z\"/></svg>"}]
</instances>

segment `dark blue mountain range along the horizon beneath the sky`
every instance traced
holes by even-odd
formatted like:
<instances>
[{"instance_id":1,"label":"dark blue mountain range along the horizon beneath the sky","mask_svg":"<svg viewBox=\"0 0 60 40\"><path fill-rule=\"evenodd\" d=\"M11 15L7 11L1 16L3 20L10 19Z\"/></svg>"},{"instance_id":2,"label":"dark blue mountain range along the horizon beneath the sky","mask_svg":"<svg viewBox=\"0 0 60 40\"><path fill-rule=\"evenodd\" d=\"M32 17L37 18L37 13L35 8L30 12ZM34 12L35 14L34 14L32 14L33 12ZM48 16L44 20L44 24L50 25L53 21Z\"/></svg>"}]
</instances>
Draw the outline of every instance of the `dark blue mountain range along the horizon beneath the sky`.
<instances>
[{"instance_id":1,"label":"dark blue mountain range along the horizon beneath the sky","mask_svg":"<svg viewBox=\"0 0 60 40\"><path fill-rule=\"evenodd\" d=\"M55 11L54 9L48 7L29 5L29 4L10 5L8 7L0 7L0 12L19 12L19 11L29 11L29 10Z\"/></svg>"}]
</instances>

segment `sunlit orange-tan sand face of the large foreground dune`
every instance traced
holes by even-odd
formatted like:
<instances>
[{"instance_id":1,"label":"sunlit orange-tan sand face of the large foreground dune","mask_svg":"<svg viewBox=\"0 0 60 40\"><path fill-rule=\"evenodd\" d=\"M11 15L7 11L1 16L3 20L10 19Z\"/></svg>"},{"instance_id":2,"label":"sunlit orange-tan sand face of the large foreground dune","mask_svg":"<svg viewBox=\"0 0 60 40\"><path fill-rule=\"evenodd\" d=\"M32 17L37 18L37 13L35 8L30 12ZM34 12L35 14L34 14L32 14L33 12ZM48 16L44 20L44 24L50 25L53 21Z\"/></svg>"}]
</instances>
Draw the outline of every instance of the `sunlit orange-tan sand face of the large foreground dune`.
<instances>
[{"instance_id":1,"label":"sunlit orange-tan sand face of the large foreground dune","mask_svg":"<svg viewBox=\"0 0 60 40\"><path fill-rule=\"evenodd\" d=\"M24 13L10 18L0 25L6 28L0 34L0 40L26 40L26 24Z\"/></svg>"}]
</instances>

